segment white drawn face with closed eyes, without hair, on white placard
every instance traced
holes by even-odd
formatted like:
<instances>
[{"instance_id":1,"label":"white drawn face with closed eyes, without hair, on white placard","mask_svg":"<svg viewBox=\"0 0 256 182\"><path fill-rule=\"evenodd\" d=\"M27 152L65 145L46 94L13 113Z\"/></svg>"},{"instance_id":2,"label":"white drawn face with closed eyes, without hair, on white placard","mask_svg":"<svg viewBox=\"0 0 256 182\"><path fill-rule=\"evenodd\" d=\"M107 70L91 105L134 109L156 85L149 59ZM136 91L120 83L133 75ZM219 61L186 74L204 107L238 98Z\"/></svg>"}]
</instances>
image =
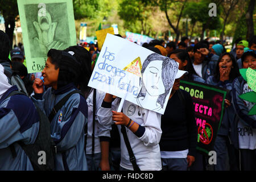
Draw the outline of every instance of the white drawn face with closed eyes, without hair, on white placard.
<instances>
[{"instance_id":1,"label":"white drawn face with closed eyes, without hair, on white placard","mask_svg":"<svg viewBox=\"0 0 256 182\"><path fill-rule=\"evenodd\" d=\"M142 74L143 84L150 96L159 96L165 92L162 81L162 64L162 60L151 61Z\"/></svg>"}]
</instances>

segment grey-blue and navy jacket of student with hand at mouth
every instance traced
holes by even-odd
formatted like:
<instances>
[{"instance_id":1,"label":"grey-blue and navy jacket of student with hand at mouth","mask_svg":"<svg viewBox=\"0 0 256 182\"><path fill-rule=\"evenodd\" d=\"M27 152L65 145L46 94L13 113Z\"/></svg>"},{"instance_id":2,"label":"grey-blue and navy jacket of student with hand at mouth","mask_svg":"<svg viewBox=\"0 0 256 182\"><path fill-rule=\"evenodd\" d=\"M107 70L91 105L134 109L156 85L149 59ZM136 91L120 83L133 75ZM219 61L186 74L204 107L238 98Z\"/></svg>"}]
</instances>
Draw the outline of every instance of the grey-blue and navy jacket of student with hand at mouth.
<instances>
[{"instance_id":1,"label":"grey-blue and navy jacket of student with hand at mouth","mask_svg":"<svg viewBox=\"0 0 256 182\"><path fill-rule=\"evenodd\" d=\"M72 83L57 90L48 88L43 94L35 94L32 100L48 116L53 106L75 89L77 88ZM75 93L52 119L51 137L57 146L56 170L84 171L88 169L84 151L84 127L87 118L86 100L80 94Z\"/></svg>"}]
</instances>

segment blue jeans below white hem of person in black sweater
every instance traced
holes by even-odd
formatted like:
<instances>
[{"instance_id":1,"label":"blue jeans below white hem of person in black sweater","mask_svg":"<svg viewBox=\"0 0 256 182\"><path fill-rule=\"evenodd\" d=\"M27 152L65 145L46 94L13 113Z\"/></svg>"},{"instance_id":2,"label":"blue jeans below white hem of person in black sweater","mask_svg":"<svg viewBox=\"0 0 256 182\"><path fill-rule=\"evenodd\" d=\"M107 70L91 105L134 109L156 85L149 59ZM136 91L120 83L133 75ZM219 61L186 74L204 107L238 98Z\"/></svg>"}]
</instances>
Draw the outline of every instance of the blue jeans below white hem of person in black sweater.
<instances>
[{"instance_id":1,"label":"blue jeans below white hem of person in black sweater","mask_svg":"<svg viewBox=\"0 0 256 182\"><path fill-rule=\"evenodd\" d=\"M162 159L162 170L163 171L187 171L188 162L187 158L171 158Z\"/></svg>"}]
</instances>

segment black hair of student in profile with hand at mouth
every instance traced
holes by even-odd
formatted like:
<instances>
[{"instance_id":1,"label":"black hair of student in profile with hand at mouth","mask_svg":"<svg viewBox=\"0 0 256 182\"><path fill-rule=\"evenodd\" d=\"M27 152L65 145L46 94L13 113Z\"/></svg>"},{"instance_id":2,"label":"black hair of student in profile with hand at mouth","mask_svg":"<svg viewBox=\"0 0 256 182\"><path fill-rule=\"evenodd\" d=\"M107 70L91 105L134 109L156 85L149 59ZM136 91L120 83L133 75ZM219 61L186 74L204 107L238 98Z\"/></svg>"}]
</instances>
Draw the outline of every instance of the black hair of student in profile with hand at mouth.
<instances>
[{"instance_id":1,"label":"black hair of student in profile with hand at mouth","mask_svg":"<svg viewBox=\"0 0 256 182\"><path fill-rule=\"evenodd\" d=\"M61 88L71 82L75 83L81 75L81 64L74 56L65 51L49 49L47 56L49 61L59 68L57 88Z\"/></svg>"}]
</instances>

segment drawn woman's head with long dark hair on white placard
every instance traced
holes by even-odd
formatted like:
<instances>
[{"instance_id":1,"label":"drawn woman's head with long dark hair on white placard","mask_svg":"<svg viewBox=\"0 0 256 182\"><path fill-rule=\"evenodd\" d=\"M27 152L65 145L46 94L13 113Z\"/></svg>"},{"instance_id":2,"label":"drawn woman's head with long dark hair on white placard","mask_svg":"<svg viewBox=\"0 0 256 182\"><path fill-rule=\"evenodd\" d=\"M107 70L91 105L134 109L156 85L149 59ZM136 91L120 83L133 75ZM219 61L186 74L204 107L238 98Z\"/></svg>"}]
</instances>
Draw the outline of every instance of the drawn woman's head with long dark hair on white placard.
<instances>
[{"instance_id":1,"label":"drawn woman's head with long dark hair on white placard","mask_svg":"<svg viewBox=\"0 0 256 182\"><path fill-rule=\"evenodd\" d=\"M170 58L152 53L148 55L142 65L141 91L138 94L138 105L144 105L144 100L155 99L155 106L152 110L163 109L166 97L174 84L175 68L178 65ZM148 95L150 97L148 97Z\"/></svg>"}]
</instances>

